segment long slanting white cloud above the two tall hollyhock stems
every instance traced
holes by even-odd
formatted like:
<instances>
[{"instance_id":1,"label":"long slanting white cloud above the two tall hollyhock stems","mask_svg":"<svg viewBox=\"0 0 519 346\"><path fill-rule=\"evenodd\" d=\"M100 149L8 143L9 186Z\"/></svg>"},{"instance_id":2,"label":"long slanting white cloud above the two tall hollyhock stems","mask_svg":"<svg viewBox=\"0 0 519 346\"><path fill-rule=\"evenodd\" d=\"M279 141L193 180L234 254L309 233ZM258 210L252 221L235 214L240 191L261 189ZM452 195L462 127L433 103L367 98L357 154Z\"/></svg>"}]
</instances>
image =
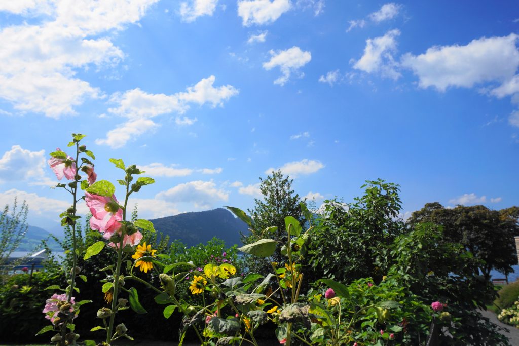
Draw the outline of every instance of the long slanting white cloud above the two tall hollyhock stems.
<instances>
[{"instance_id":1,"label":"long slanting white cloud above the two tall hollyhock stems","mask_svg":"<svg viewBox=\"0 0 519 346\"><path fill-rule=\"evenodd\" d=\"M173 95L150 94L139 88L128 90L124 93L115 93L111 101L117 107L108 108L108 112L129 118L125 123L119 124L116 129L108 131L106 139L97 139L95 143L105 144L112 148L120 148L149 130L158 127L149 118L170 113L185 113L189 104L210 104L211 107L223 106L232 96L238 94L238 89L231 85L214 87L215 77L202 78L192 87L187 87L185 92ZM196 118L195 118L196 119ZM179 118L177 123L189 124L194 119Z\"/></svg>"}]
</instances>

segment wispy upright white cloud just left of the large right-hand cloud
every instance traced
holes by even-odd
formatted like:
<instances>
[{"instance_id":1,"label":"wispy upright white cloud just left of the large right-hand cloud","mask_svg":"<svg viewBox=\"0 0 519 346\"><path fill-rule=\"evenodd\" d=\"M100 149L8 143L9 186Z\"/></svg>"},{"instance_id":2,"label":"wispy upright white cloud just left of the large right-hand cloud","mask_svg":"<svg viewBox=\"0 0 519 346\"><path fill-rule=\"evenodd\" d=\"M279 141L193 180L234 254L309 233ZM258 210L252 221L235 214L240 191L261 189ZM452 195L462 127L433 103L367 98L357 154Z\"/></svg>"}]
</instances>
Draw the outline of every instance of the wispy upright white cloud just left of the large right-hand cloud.
<instances>
[{"instance_id":1,"label":"wispy upright white cloud just left of the large right-hand cloud","mask_svg":"<svg viewBox=\"0 0 519 346\"><path fill-rule=\"evenodd\" d=\"M393 53L397 50L396 38L400 35L398 29L388 31L384 36L368 38L364 54L354 65L353 68L367 73L380 72L383 76L393 79L401 75L395 70L396 63Z\"/></svg>"}]
</instances>

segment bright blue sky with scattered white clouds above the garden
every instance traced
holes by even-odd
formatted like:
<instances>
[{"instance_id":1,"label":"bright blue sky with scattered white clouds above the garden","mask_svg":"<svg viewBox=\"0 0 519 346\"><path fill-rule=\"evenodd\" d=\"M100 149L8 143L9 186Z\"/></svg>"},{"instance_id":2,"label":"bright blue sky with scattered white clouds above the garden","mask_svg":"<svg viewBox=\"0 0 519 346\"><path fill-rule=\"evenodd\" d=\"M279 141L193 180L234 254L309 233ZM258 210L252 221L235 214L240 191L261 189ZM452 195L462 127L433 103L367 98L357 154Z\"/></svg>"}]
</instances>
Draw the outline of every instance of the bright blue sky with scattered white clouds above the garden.
<instances>
[{"instance_id":1,"label":"bright blue sky with scattered white clouds above the garden","mask_svg":"<svg viewBox=\"0 0 519 346\"><path fill-rule=\"evenodd\" d=\"M518 29L515 1L2 2L0 202L55 227L80 132L99 179L155 178L143 217L250 208L272 168L317 205L377 178L404 217L517 205Z\"/></svg>"}]
</instances>

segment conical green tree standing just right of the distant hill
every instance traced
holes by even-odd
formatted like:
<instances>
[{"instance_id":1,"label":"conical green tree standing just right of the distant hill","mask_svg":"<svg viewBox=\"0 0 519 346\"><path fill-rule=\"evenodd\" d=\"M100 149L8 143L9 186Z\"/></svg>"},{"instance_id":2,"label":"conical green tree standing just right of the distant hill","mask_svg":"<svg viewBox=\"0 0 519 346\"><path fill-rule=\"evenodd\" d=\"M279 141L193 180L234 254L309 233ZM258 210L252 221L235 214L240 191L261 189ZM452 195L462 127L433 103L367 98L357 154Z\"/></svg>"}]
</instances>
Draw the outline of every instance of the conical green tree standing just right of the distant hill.
<instances>
[{"instance_id":1,"label":"conical green tree standing just right of the distant hill","mask_svg":"<svg viewBox=\"0 0 519 346\"><path fill-rule=\"evenodd\" d=\"M299 198L299 195L292 189L291 179L285 176L281 171L272 171L265 179L260 178L260 190L263 199L254 199L254 209L249 209L249 215L252 218L253 233L241 233L241 241L243 244L250 244L260 239L268 238L274 240L286 241L285 217L292 216L304 224L304 216L299 206L299 202L305 202ZM277 227L277 230L270 232L268 227ZM285 256L281 254L280 247L271 257L275 262L283 262ZM251 271L267 274L271 271L269 259L250 257L247 260L247 266Z\"/></svg>"}]
</instances>

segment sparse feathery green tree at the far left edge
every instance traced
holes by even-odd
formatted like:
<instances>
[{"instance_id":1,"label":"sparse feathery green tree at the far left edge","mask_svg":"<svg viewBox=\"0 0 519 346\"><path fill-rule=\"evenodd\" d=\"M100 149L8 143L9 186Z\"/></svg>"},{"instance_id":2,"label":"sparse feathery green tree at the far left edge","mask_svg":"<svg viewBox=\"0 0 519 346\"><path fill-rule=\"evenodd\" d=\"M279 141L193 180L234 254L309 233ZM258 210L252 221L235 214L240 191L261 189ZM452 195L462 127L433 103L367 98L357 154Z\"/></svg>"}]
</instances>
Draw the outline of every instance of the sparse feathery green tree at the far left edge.
<instances>
[{"instance_id":1,"label":"sparse feathery green tree at the far left edge","mask_svg":"<svg viewBox=\"0 0 519 346\"><path fill-rule=\"evenodd\" d=\"M18 201L15 198L11 211L9 212L9 205L6 204L4 210L0 213L0 274L5 274L9 270L7 259L20 245L25 233L27 233L29 227L27 224L28 212L29 207L25 201L18 210Z\"/></svg>"}]
</instances>

